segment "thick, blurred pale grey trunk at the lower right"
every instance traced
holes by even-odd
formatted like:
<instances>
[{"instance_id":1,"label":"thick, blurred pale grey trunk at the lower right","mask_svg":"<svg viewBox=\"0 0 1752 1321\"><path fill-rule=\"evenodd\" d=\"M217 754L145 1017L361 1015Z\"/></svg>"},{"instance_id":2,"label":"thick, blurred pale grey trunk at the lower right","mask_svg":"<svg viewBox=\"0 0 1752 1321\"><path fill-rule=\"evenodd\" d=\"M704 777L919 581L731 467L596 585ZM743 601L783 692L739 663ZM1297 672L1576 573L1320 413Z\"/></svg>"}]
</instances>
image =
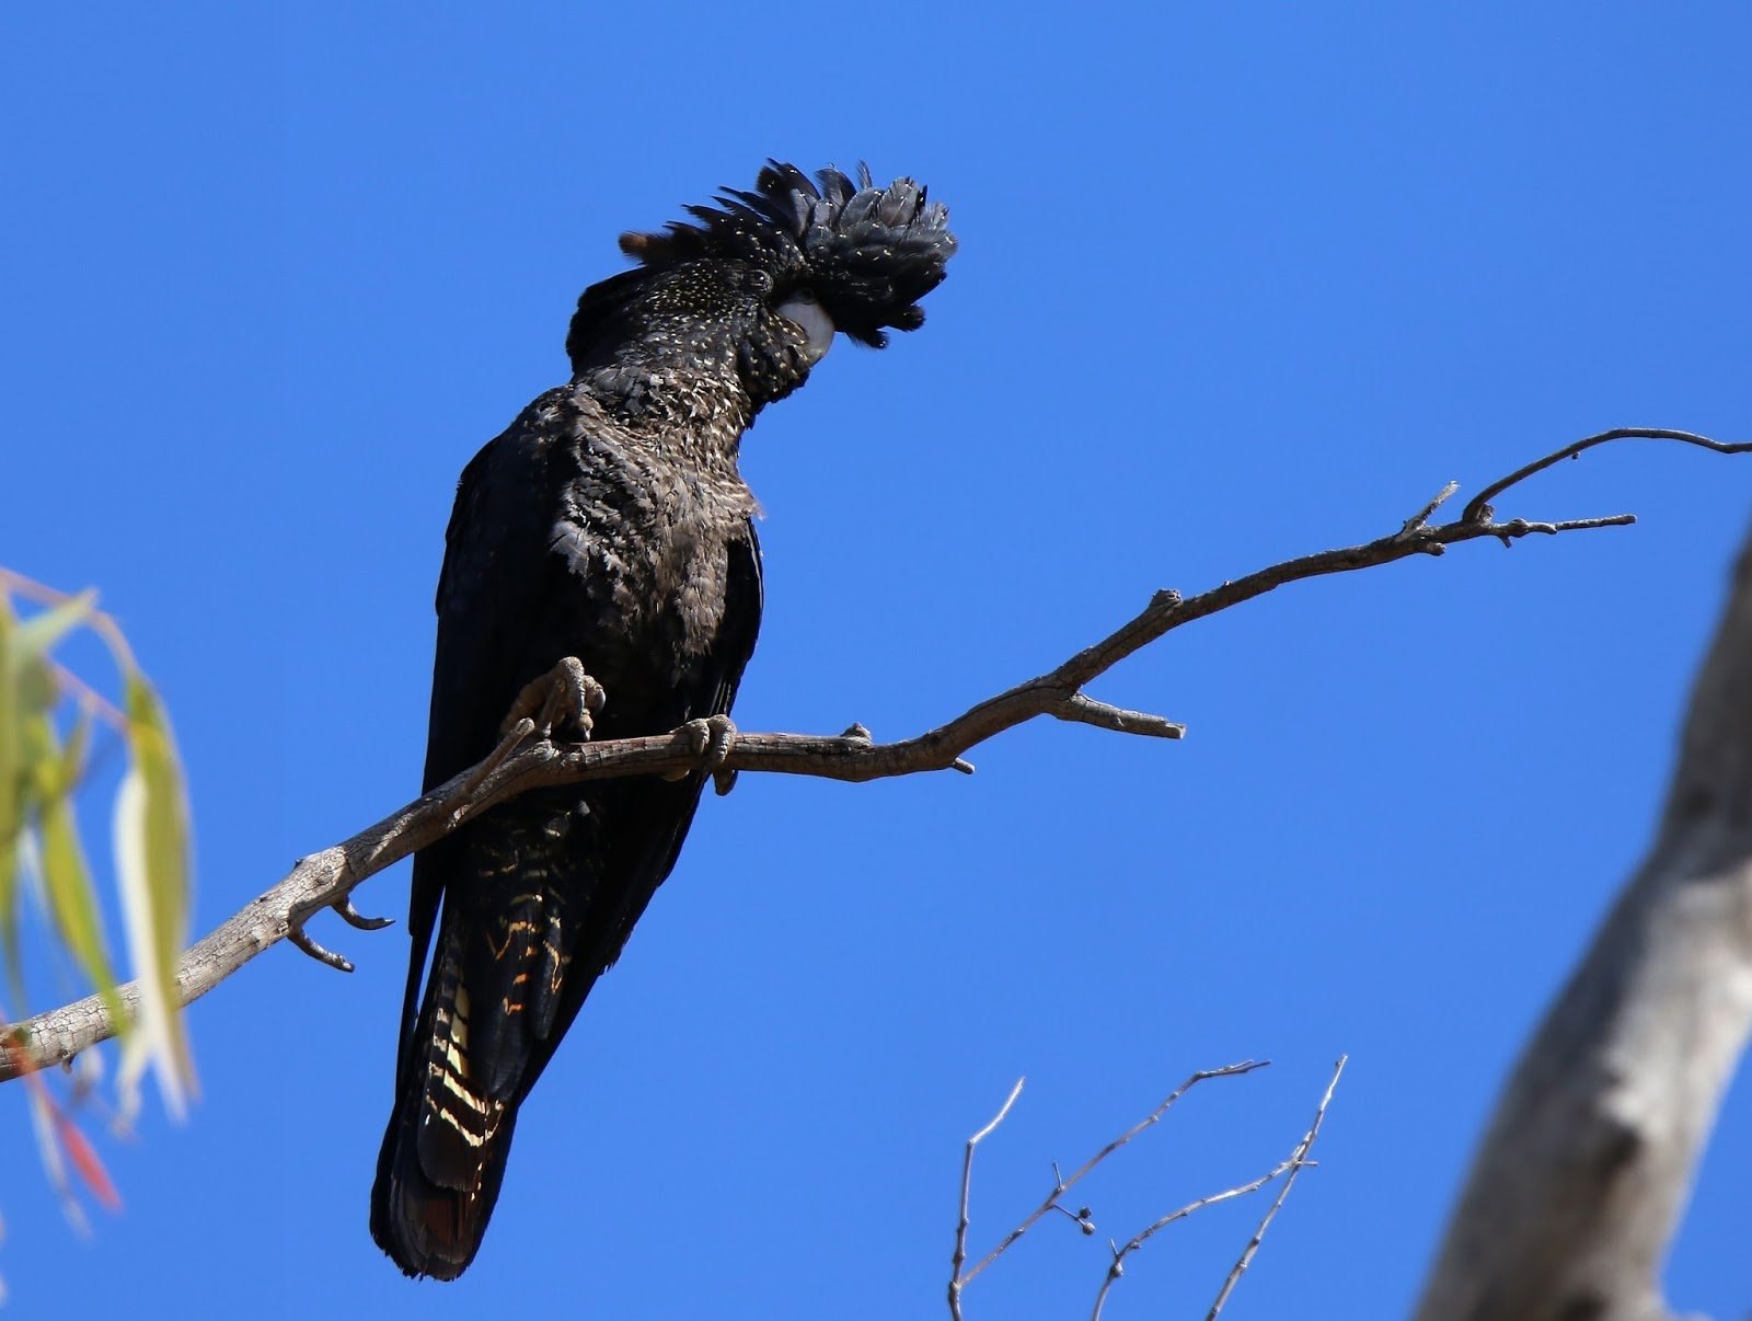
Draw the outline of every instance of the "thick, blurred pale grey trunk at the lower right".
<instances>
[{"instance_id":1,"label":"thick, blurred pale grey trunk at the lower right","mask_svg":"<svg viewBox=\"0 0 1752 1321\"><path fill-rule=\"evenodd\" d=\"M1661 1265L1748 1034L1752 538L1654 846L1503 1088L1419 1321L1668 1317Z\"/></svg>"}]
</instances>

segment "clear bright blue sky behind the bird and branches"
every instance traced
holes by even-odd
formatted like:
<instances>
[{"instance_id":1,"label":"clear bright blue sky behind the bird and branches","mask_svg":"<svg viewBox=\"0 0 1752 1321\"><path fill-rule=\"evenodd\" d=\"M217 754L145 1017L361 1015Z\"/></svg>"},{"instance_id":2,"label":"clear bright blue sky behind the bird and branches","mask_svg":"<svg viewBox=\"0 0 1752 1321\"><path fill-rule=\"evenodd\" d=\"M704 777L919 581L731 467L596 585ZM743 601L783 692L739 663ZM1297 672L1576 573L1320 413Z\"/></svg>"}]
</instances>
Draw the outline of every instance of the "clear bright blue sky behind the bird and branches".
<instances>
[{"instance_id":1,"label":"clear bright blue sky behind the bird and branches","mask_svg":"<svg viewBox=\"0 0 1752 1321\"><path fill-rule=\"evenodd\" d=\"M0 562L95 583L173 711L210 927L419 783L457 473L559 384L615 237L767 156L950 203L923 331L841 342L750 434L745 729L904 736L1142 606L1398 526L1617 424L1748 434L1741 5L11 7ZM596 12L592 12L596 11ZM1086 1314L1102 1239L1321 1165L1228 1316L1405 1310L1491 1097L1635 867L1752 461L1591 454L1503 512L1629 531L1282 590L978 776L745 776L592 995L454 1286L366 1190L406 941L270 951L193 1013L203 1102L103 1151L75 1239L23 1093L18 1316L943 1316L983 1251L1193 1069L969 1319ZM102 822L107 811L88 813ZM371 881L398 916L406 869ZM1752 1305L1752 1091L1671 1296ZM1209 1305L1261 1202L1158 1237L1109 1316Z\"/></svg>"}]
</instances>

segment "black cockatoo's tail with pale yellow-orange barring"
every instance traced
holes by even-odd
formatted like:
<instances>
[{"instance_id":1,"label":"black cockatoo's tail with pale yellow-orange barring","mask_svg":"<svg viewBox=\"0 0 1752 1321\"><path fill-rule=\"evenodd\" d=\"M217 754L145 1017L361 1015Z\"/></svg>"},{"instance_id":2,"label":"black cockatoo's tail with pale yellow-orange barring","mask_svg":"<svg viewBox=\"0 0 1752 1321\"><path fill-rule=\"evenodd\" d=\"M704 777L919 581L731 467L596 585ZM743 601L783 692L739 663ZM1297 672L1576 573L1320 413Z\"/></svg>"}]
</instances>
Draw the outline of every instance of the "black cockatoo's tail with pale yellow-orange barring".
<instances>
[{"instance_id":1,"label":"black cockatoo's tail with pale yellow-orange barring","mask_svg":"<svg viewBox=\"0 0 1752 1321\"><path fill-rule=\"evenodd\" d=\"M552 1053L555 929L540 894L473 934L447 915L371 1188L371 1237L408 1275L456 1279L487 1232L517 1106Z\"/></svg>"}]
</instances>

